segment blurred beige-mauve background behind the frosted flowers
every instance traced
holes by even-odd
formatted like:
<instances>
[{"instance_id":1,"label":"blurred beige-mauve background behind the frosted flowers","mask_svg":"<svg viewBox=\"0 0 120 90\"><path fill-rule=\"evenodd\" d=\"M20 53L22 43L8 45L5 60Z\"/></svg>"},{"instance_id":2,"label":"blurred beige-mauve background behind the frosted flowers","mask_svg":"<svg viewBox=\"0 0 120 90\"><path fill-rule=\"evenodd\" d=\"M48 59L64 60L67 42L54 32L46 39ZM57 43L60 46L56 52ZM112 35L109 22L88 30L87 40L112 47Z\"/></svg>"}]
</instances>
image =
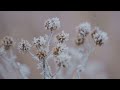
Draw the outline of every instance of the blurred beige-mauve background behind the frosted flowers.
<instances>
[{"instance_id":1,"label":"blurred beige-mauve background behind the frosted flowers","mask_svg":"<svg viewBox=\"0 0 120 90\"><path fill-rule=\"evenodd\" d=\"M120 78L120 12L117 11L0 11L0 38L10 35L19 41L21 38L31 42L34 36L48 34L44 30L44 22L51 17L58 17L61 21L61 30L75 36L75 27L82 22L97 25L109 35L107 43L91 54L89 62L104 63L108 78ZM73 46L73 38L68 42ZM18 61L27 64L32 74L30 78L41 78L36 63L30 55L20 55L16 49Z\"/></svg>"}]
</instances>

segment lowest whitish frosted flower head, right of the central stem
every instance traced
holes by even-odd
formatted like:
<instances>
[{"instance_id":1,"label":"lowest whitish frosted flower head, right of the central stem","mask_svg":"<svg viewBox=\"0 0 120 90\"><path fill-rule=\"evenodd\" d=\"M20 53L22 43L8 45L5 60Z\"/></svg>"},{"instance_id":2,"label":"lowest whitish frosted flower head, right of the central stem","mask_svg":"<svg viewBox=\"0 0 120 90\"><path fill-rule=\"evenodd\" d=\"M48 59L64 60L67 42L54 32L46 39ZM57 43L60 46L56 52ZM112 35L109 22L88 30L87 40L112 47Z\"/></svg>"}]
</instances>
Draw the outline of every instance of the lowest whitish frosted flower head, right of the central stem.
<instances>
[{"instance_id":1,"label":"lowest whitish frosted flower head, right of the central stem","mask_svg":"<svg viewBox=\"0 0 120 90\"><path fill-rule=\"evenodd\" d=\"M62 53L59 56L56 57L55 62L59 67L68 67L70 62L71 56L67 53Z\"/></svg>"}]
</instances>

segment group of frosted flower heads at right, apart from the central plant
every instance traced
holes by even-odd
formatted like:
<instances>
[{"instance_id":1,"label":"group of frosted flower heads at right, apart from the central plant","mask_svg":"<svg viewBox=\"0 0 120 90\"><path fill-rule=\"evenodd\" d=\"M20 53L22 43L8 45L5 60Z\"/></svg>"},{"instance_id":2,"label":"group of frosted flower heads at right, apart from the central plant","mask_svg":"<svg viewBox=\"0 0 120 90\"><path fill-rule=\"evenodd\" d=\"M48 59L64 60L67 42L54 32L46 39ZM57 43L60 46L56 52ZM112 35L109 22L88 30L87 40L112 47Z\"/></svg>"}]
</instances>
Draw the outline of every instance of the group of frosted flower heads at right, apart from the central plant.
<instances>
[{"instance_id":1,"label":"group of frosted flower heads at right, apart from the central plant","mask_svg":"<svg viewBox=\"0 0 120 90\"><path fill-rule=\"evenodd\" d=\"M91 25L89 23L82 23L77 27L77 38L75 40L76 45L80 46L84 43L86 36L92 32ZM108 39L107 33L100 30L98 27L93 29L91 36L96 45L101 46Z\"/></svg>"}]
</instances>

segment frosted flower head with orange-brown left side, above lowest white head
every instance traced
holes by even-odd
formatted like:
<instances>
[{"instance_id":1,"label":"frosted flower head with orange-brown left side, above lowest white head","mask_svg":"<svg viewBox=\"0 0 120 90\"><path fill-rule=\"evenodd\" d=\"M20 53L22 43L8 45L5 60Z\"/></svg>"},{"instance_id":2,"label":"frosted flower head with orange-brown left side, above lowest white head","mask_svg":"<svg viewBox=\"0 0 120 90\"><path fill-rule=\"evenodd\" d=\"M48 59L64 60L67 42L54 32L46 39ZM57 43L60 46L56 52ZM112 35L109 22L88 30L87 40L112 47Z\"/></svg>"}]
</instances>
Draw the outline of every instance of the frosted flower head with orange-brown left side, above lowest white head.
<instances>
[{"instance_id":1,"label":"frosted flower head with orange-brown left side, above lowest white head","mask_svg":"<svg viewBox=\"0 0 120 90\"><path fill-rule=\"evenodd\" d=\"M53 48L53 55L58 56L61 53L65 52L68 49L66 44L58 43L56 47Z\"/></svg>"}]
</instances>

